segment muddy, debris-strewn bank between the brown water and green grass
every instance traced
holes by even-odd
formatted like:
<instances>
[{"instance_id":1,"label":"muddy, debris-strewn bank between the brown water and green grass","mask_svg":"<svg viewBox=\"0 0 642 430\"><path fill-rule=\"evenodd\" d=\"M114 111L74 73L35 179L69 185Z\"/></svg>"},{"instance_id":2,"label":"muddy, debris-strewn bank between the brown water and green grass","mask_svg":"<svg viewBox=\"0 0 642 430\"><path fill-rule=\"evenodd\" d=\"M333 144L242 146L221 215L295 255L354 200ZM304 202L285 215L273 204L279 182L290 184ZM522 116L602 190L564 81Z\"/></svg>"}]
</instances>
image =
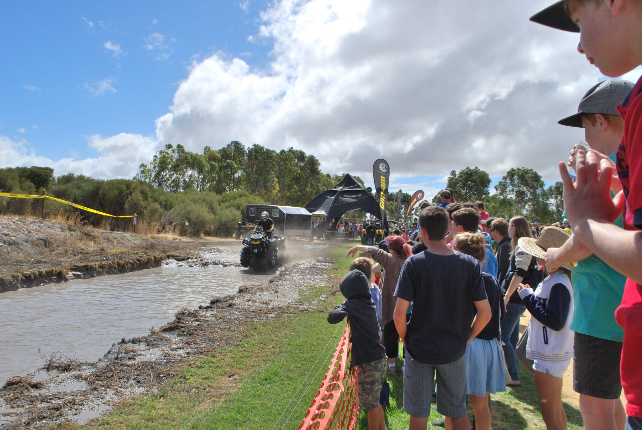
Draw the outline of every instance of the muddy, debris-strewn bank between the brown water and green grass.
<instances>
[{"instance_id":1,"label":"muddy, debris-strewn bank between the brown water and green grass","mask_svg":"<svg viewBox=\"0 0 642 430\"><path fill-rule=\"evenodd\" d=\"M131 395L153 393L189 363L230 346L260 321L327 307L323 256L284 267L270 282L241 287L199 309L182 309L174 321L148 336L123 339L96 363L52 356L44 370L13 377L0 388L0 426L33 429L71 420L86 422ZM309 294L321 288L321 294ZM229 387L207 388L222 396ZM220 391L220 393L218 391Z\"/></svg>"}]
</instances>

